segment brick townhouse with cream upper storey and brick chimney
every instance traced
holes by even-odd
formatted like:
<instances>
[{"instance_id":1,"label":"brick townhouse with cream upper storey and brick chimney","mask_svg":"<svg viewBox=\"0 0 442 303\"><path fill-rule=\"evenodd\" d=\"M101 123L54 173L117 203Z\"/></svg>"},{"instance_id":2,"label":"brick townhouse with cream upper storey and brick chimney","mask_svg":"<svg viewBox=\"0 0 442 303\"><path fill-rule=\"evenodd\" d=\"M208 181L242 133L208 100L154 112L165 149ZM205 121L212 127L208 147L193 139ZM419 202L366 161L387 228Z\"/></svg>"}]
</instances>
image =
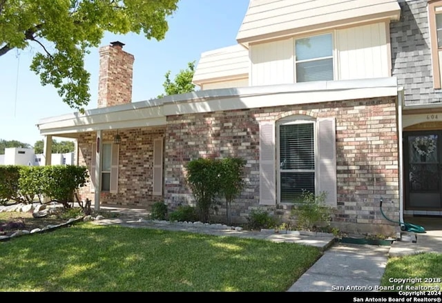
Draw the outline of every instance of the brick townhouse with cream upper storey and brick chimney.
<instances>
[{"instance_id":1,"label":"brick townhouse with cream upper storey and brick chimney","mask_svg":"<svg viewBox=\"0 0 442 303\"><path fill-rule=\"evenodd\" d=\"M439 5L251 0L238 45L201 55L201 90L132 102L134 58L115 42L99 51L97 108L38 127L46 150L53 135L77 139L77 164L91 175L81 196L96 208L191 204L186 162L232 155L247 160L237 222L255 208L287 219L307 189L327 193L334 226L392 232L380 199L396 220L442 211L441 170L437 193L413 183L442 150ZM426 141L414 147L416 139ZM408 160L414 152L419 163Z\"/></svg>"}]
</instances>

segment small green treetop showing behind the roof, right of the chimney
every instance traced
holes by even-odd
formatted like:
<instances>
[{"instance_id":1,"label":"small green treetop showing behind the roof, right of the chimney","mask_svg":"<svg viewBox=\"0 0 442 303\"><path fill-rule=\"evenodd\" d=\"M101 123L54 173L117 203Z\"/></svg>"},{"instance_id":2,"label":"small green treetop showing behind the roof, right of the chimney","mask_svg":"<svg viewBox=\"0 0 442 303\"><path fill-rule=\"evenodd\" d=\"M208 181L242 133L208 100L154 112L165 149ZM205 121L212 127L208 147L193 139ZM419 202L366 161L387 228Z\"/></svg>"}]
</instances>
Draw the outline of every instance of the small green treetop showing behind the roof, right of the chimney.
<instances>
[{"instance_id":1,"label":"small green treetop showing behind the roof, right of the chimney","mask_svg":"<svg viewBox=\"0 0 442 303\"><path fill-rule=\"evenodd\" d=\"M171 71L166 72L166 75L164 75L166 80L163 83L165 94L158 95L158 98L184 94L195 90L195 84L192 83L193 74L195 73L195 61L187 63L187 66L188 68L177 73L174 81L171 80Z\"/></svg>"}]
</instances>

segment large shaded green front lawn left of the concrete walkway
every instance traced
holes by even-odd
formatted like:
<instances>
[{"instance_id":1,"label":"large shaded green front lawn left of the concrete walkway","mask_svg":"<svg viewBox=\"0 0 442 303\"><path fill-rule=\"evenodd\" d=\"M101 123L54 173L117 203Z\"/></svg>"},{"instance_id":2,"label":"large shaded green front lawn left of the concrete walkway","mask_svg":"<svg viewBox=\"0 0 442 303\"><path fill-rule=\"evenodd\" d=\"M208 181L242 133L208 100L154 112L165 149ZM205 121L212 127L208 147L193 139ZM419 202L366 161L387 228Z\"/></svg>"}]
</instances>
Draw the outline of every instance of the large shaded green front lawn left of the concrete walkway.
<instances>
[{"instance_id":1,"label":"large shaded green front lawn left of the concrete walkway","mask_svg":"<svg viewBox=\"0 0 442 303\"><path fill-rule=\"evenodd\" d=\"M298 244L84 223L0 242L0 291L287 291L320 255Z\"/></svg>"}]
</instances>

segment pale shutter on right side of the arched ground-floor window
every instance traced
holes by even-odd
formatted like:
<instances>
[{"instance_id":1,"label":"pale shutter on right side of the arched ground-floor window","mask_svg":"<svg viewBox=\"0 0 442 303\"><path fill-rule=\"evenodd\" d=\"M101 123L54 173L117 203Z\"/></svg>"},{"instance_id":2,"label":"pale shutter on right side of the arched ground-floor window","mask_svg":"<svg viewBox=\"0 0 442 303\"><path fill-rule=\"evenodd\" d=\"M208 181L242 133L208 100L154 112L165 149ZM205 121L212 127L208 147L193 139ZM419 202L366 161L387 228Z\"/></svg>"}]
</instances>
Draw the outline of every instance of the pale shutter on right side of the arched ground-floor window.
<instances>
[{"instance_id":1,"label":"pale shutter on right side of the arched ground-floor window","mask_svg":"<svg viewBox=\"0 0 442 303\"><path fill-rule=\"evenodd\" d=\"M318 191L327 193L325 204L337 206L336 190L336 122L318 119Z\"/></svg>"}]
</instances>

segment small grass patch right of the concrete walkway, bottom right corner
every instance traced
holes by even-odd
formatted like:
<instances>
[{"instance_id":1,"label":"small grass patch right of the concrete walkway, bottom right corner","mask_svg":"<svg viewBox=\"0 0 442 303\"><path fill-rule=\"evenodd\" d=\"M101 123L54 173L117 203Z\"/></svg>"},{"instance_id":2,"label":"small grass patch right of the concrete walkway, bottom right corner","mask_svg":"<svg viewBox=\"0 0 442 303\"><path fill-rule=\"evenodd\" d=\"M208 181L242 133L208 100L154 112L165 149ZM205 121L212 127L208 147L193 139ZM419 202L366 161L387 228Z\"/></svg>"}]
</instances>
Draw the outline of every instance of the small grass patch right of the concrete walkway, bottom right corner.
<instances>
[{"instance_id":1,"label":"small grass patch right of the concrete walkway, bottom right corner","mask_svg":"<svg viewBox=\"0 0 442 303\"><path fill-rule=\"evenodd\" d=\"M417 279L398 280L407 278ZM439 286L442 288L442 253L420 253L390 258L385 267L381 285L394 285L397 290L396 286L402 284L404 288L407 286Z\"/></svg>"}]
</instances>

